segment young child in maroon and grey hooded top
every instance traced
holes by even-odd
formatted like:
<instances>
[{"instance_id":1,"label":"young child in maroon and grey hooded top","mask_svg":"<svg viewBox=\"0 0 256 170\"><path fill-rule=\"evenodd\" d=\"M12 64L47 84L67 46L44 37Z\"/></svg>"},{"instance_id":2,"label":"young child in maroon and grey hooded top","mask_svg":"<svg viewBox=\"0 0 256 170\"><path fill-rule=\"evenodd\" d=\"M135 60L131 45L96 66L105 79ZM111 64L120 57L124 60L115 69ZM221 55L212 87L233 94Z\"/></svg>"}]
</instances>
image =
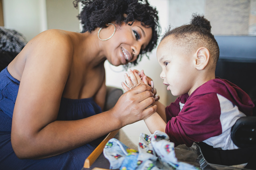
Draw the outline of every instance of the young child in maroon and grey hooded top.
<instances>
[{"instance_id":1,"label":"young child in maroon and grey hooded top","mask_svg":"<svg viewBox=\"0 0 256 170\"><path fill-rule=\"evenodd\" d=\"M230 137L231 127L242 116L251 116L250 97L238 86L215 77L219 47L211 34L210 22L193 14L190 24L169 29L157 47L160 77L167 90L179 96L165 108L156 101L157 113L145 123L151 133L161 130L175 146L205 142L213 148L237 149ZM128 71L125 91L143 82L135 71Z\"/></svg>"}]
</instances>

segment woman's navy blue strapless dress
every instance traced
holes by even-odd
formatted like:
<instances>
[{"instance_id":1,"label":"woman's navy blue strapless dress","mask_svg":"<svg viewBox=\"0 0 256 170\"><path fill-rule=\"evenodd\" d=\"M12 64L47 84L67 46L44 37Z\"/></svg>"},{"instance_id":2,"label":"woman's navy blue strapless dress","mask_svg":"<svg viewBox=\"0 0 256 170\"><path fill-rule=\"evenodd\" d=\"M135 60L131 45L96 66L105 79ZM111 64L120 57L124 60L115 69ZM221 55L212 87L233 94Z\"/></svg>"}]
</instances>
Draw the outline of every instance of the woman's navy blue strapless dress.
<instances>
[{"instance_id":1,"label":"woman's navy blue strapless dress","mask_svg":"<svg viewBox=\"0 0 256 170\"><path fill-rule=\"evenodd\" d=\"M85 159L96 148L100 140L40 160L20 160L11 145L11 127L14 104L19 81L8 72L7 67L0 73L0 169L82 169ZM58 120L78 120L101 113L101 108L92 98L61 98Z\"/></svg>"}]
</instances>

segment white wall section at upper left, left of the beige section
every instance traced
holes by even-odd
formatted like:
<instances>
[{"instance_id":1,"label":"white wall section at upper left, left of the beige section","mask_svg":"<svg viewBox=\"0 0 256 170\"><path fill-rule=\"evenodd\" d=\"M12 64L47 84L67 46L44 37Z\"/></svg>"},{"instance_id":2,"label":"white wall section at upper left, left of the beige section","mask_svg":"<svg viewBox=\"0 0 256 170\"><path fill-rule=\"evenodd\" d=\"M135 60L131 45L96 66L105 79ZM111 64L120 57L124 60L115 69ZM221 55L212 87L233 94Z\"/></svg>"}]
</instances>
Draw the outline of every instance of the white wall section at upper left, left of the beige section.
<instances>
[{"instance_id":1,"label":"white wall section at upper left, left of the beige section","mask_svg":"<svg viewBox=\"0 0 256 170\"><path fill-rule=\"evenodd\" d=\"M26 40L47 29L45 0L3 0L4 25Z\"/></svg>"}]
</instances>

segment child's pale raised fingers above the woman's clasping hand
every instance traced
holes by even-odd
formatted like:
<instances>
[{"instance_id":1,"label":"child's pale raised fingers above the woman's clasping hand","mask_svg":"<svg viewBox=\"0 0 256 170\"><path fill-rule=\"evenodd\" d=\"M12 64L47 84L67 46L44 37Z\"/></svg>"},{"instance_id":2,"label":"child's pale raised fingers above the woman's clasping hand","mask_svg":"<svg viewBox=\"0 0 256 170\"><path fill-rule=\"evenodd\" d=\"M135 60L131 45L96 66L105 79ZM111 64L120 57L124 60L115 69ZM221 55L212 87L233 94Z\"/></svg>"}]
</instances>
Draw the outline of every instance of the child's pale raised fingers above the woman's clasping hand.
<instances>
[{"instance_id":1,"label":"child's pale raised fingers above the woman's clasping hand","mask_svg":"<svg viewBox=\"0 0 256 170\"><path fill-rule=\"evenodd\" d=\"M137 74L137 70L132 71L131 69L128 69L128 73L129 73L130 77L128 76L127 73L124 74L124 78L125 78L125 81L126 81L126 84L128 85L128 87L124 84L124 82L121 82L122 87L125 91L133 89L134 87L136 87L140 84L148 85L148 79L147 79L146 75L144 75L143 77L140 77Z\"/></svg>"}]
</instances>

